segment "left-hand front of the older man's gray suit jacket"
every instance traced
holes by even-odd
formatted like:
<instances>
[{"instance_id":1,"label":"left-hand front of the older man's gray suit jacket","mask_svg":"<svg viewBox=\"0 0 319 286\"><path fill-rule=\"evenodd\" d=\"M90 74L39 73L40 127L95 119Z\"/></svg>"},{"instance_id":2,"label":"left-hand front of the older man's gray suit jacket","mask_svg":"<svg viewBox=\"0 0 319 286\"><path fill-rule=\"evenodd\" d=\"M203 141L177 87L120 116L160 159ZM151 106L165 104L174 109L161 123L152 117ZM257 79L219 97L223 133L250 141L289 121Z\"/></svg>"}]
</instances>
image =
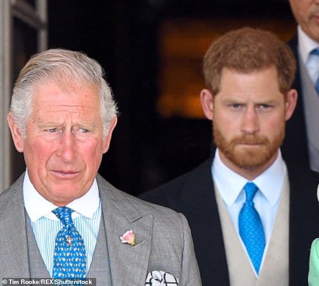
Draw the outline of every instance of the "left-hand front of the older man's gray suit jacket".
<instances>
[{"instance_id":1,"label":"left-hand front of the older man's gray suit jacket","mask_svg":"<svg viewBox=\"0 0 319 286\"><path fill-rule=\"evenodd\" d=\"M0 273L3 277L30 277L22 175L2 194L0 204Z\"/></svg>"}]
</instances>

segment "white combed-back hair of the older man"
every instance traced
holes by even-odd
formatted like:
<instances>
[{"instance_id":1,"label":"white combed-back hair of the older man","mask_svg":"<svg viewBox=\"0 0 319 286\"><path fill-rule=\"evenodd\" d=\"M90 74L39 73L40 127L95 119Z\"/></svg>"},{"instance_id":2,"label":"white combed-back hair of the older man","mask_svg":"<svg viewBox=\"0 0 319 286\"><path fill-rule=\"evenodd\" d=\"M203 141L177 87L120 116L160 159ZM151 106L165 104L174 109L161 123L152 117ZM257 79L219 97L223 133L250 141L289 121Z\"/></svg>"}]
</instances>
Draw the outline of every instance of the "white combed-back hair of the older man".
<instances>
[{"instance_id":1,"label":"white combed-back hair of the older man","mask_svg":"<svg viewBox=\"0 0 319 286\"><path fill-rule=\"evenodd\" d=\"M10 111L22 135L26 135L26 122L32 113L33 87L45 81L54 81L66 89L69 82L79 87L97 86L104 137L108 134L112 119L117 115L117 105L101 65L82 52L49 49L30 58L13 89Z\"/></svg>"}]
</instances>

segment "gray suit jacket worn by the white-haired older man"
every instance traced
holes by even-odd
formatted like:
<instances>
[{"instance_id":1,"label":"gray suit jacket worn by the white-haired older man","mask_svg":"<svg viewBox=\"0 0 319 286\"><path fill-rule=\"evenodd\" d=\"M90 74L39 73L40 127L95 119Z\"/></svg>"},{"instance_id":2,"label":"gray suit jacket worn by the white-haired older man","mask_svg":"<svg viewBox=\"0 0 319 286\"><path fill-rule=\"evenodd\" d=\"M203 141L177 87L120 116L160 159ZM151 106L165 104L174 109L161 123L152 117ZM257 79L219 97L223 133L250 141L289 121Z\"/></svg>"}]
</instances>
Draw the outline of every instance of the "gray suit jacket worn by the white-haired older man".
<instances>
[{"instance_id":1,"label":"gray suit jacket worn by the white-haired older man","mask_svg":"<svg viewBox=\"0 0 319 286\"><path fill-rule=\"evenodd\" d=\"M30 277L23 178L24 175L0 195L0 278ZM144 285L148 272L163 270L177 277L180 285L201 285L185 217L126 194L99 175L97 181L112 284ZM130 229L136 235L136 243L143 242L135 248L119 239ZM97 285L105 285L96 278Z\"/></svg>"}]
</instances>

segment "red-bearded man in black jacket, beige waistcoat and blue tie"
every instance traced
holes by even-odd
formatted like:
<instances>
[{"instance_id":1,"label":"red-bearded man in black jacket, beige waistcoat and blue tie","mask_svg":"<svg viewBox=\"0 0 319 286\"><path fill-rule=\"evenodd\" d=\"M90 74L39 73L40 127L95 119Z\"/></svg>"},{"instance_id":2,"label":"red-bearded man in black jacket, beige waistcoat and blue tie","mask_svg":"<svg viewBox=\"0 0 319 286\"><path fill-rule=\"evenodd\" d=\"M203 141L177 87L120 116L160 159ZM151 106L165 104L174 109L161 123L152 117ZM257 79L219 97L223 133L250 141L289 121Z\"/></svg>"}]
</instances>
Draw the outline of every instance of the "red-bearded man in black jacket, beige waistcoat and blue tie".
<instances>
[{"instance_id":1,"label":"red-bearded man in black jacket, beige waistcoat and blue tie","mask_svg":"<svg viewBox=\"0 0 319 286\"><path fill-rule=\"evenodd\" d=\"M280 152L297 102L296 62L274 34L243 28L204 57L213 158L141 197L187 217L203 285L303 285L318 235L319 178Z\"/></svg>"}]
</instances>

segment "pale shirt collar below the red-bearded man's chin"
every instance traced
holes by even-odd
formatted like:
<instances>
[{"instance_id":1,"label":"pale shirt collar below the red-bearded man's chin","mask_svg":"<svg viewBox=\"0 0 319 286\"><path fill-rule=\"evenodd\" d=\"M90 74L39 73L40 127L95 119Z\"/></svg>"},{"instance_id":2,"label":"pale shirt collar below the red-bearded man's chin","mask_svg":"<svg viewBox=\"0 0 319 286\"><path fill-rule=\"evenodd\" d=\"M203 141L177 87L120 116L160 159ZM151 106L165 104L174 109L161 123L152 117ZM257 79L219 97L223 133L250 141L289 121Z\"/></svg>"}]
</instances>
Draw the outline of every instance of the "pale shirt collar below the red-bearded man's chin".
<instances>
[{"instance_id":1,"label":"pale shirt collar below the red-bearded man's chin","mask_svg":"<svg viewBox=\"0 0 319 286\"><path fill-rule=\"evenodd\" d=\"M286 164L279 150L274 163L253 180L271 205L274 205L280 197L286 172ZM221 161L218 149L212 163L212 174L222 199L228 206L232 205L248 180L229 169Z\"/></svg>"}]
</instances>

